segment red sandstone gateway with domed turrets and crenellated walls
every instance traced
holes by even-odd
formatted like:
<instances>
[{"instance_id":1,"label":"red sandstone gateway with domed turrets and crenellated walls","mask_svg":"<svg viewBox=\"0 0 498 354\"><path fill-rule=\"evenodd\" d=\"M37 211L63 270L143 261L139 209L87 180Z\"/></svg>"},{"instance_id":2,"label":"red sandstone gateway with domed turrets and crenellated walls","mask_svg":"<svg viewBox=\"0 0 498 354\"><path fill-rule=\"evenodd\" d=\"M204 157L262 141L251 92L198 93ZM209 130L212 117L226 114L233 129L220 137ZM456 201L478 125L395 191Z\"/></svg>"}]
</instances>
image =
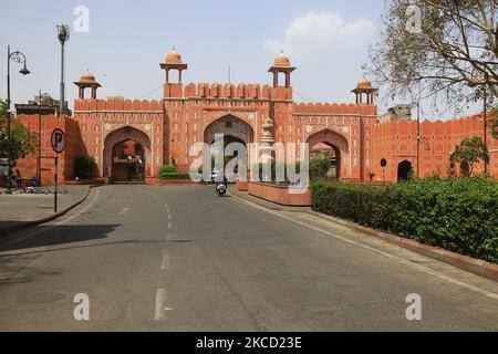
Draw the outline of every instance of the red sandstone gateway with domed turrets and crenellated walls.
<instances>
[{"instance_id":1,"label":"red sandstone gateway with domed turrets and crenellated walls","mask_svg":"<svg viewBox=\"0 0 498 354\"><path fill-rule=\"evenodd\" d=\"M91 73L74 84L79 98L73 116L62 116L59 126L68 145L61 154L60 179L74 178L74 158L87 154L97 164L96 176L107 180L135 179L157 183L159 167L176 164L188 171L195 157L188 156L195 143L211 144L215 134L249 143L309 143L310 149L328 149L333 158L335 176L349 180L382 181L381 159L385 158L385 180L395 181L411 169L415 175L445 176L453 166L449 155L465 137L483 136L479 116L460 119L411 121L407 113L392 110L378 116L375 88L362 79L353 90L355 103L298 103L293 101L289 58L278 55L268 70L273 84L219 83L183 84L187 64L173 50L160 63L165 71L164 95L158 101L97 98L101 84ZM173 82L172 71L178 72ZM280 82L279 76L284 76ZM91 96L85 97L85 91ZM50 136L58 126L54 115L22 115L20 119L41 136ZM417 133L419 128L419 143ZM490 134L490 133L488 133ZM498 139L488 139L489 171L498 177ZM48 139L39 150L18 162L24 176L39 176L53 181L53 157ZM417 170L418 167L418 170ZM477 166L476 170L483 170Z\"/></svg>"}]
</instances>

